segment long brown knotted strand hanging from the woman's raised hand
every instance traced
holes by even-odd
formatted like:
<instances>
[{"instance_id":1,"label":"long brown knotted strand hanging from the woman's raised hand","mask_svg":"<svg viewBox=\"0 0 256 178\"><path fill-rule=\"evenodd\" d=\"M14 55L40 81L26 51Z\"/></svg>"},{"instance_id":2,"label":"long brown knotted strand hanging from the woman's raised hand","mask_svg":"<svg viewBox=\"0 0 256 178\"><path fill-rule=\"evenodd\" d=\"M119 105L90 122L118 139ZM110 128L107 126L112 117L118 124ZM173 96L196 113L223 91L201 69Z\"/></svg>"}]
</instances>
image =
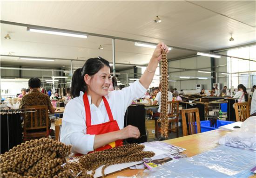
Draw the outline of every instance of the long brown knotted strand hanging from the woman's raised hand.
<instances>
[{"instance_id":1,"label":"long brown knotted strand hanging from the woman's raised hand","mask_svg":"<svg viewBox=\"0 0 256 178\"><path fill-rule=\"evenodd\" d=\"M168 62L166 51L162 51L161 62L161 113L157 120L161 122L161 136L168 138Z\"/></svg>"}]
</instances>

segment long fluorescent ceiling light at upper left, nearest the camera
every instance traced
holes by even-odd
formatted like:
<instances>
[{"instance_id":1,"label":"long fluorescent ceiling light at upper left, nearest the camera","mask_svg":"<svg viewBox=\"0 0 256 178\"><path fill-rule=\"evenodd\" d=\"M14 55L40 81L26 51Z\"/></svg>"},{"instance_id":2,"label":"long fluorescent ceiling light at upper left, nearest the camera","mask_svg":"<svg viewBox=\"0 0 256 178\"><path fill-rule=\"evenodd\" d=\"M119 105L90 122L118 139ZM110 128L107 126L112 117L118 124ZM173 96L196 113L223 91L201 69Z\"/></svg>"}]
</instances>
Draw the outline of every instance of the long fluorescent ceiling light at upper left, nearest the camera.
<instances>
[{"instance_id":1,"label":"long fluorescent ceiling light at upper left, nearest the camera","mask_svg":"<svg viewBox=\"0 0 256 178\"><path fill-rule=\"evenodd\" d=\"M47 30L47 29L35 29L27 27L27 31L30 32L38 32L38 33L47 33L52 35L61 35L67 37L78 37L78 38L88 38L88 35L82 33L74 33L74 32L61 32L61 31L54 31L54 30Z\"/></svg>"}]
</instances>

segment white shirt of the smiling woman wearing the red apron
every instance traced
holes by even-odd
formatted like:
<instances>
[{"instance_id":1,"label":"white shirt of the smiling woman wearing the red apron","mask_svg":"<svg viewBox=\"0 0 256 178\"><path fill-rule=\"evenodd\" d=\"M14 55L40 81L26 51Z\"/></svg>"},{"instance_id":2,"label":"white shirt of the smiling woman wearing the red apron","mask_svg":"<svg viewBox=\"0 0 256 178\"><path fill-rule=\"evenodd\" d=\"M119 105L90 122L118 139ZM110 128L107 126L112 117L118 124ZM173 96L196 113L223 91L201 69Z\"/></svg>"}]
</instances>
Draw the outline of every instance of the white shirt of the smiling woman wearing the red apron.
<instances>
[{"instance_id":1,"label":"white shirt of the smiling woman wearing the red apron","mask_svg":"<svg viewBox=\"0 0 256 178\"><path fill-rule=\"evenodd\" d=\"M124 126L124 115L127 107L135 99L140 98L147 89L145 89L139 80L131 84L129 87L122 90L114 90L108 93L106 97L114 120L120 129ZM73 145L73 153L87 154L94 150L95 135L86 134L85 107L83 103L83 92L80 95L70 100L64 110L62 127L61 127L61 142L66 145ZM88 95L91 110L92 125L101 124L109 121L108 113L103 100L99 107L91 103L91 96Z\"/></svg>"}]
</instances>

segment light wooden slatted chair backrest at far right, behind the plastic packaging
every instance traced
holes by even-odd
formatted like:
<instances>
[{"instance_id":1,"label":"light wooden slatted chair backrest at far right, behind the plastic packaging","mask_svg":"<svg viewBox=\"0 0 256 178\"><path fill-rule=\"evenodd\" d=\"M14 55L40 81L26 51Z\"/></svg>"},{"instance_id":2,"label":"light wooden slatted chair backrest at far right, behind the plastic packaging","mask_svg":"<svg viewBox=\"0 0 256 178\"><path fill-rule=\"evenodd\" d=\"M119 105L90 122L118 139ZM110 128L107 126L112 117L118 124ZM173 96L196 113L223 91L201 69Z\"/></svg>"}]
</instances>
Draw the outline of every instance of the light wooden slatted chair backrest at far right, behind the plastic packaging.
<instances>
[{"instance_id":1,"label":"light wooden slatted chair backrest at far right, behind the plastic packaging","mask_svg":"<svg viewBox=\"0 0 256 178\"><path fill-rule=\"evenodd\" d=\"M236 121L245 121L249 116L249 103L236 102L235 103Z\"/></svg>"}]
</instances>

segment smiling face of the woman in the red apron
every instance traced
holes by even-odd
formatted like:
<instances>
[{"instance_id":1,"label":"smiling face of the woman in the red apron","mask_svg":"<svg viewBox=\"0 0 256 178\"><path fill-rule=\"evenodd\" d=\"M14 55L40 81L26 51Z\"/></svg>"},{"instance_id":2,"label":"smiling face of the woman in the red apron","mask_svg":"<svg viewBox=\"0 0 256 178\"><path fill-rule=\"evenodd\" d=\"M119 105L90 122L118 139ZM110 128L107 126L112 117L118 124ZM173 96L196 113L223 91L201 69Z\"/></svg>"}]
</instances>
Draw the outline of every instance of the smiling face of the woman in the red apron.
<instances>
[{"instance_id":1,"label":"smiling face of the woman in the red apron","mask_svg":"<svg viewBox=\"0 0 256 178\"><path fill-rule=\"evenodd\" d=\"M108 95L108 87L111 83L109 67L104 65L104 67L96 74L89 76L89 80L86 83L88 85L88 92L90 95Z\"/></svg>"}]
</instances>

